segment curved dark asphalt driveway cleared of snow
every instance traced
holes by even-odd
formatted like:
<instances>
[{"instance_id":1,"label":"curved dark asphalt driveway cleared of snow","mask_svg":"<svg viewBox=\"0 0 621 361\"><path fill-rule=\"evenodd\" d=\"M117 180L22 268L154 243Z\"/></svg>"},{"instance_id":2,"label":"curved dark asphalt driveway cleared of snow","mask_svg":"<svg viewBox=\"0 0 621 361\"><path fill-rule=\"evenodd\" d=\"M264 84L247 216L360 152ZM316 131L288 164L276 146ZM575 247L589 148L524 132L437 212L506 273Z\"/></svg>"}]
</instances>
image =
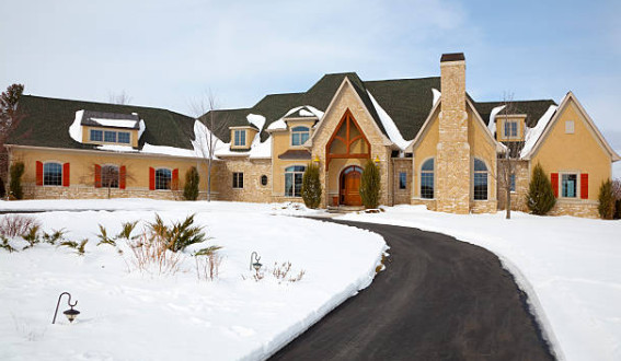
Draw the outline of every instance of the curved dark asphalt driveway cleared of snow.
<instances>
[{"instance_id":1,"label":"curved dark asphalt driveway cleared of snow","mask_svg":"<svg viewBox=\"0 0 621 361\"><path fill-rule=\"evenodd\" d=\"M553 360L526 294L484 248L417 229L381 234L387 269L272 360Z\"/></svg>"}]
</instances>

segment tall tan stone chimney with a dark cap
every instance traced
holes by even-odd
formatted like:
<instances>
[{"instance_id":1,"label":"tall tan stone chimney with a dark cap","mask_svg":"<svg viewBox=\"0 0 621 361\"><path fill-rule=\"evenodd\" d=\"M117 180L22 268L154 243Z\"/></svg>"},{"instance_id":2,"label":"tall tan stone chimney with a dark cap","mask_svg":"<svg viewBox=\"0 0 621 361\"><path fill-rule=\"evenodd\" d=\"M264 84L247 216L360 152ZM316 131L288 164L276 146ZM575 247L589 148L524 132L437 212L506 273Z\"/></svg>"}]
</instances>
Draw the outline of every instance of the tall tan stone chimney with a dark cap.
<instances>
[{"instance_id":1,"label":"tall tan stone chimney with a dark cap","mask_svg":"<svg viewBox=\"0 0 621 361\"><path fill-rule=\"evenodd\" d=\"M470 144L465 112L465 57L440 58L441 106L437 145L436 208L450 213L470 212Z\"/></svg>"}]
</instances>

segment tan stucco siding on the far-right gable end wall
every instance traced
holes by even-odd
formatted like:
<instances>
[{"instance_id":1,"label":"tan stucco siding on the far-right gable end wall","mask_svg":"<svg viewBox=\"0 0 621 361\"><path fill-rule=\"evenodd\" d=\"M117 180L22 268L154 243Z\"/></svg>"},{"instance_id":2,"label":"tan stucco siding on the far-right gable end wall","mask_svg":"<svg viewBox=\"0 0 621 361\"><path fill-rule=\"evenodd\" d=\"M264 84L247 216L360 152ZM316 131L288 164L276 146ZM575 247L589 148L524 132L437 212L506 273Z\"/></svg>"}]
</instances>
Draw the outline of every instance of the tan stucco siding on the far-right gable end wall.
<instances>
[{"instance_id":1,"label":"tan stucco siding on the far-right gable end wall","mask_svg":"<svg viewBox=\"0 0 621 361\"><path fill-rule=\"evenodd\" d=\"M574 120L574 133L565 132L565 121ZM599 186L611 176L611 159L599 143L587 120L570 101L531 158L530 168L540 163L545 174L572 172L588 174L588 200L597 201ZM559 182L561 186L561 182ZM559 190L559 196L561 191ZM562 200L562 199L561 199Z\"/></svg>"}]
</instances>

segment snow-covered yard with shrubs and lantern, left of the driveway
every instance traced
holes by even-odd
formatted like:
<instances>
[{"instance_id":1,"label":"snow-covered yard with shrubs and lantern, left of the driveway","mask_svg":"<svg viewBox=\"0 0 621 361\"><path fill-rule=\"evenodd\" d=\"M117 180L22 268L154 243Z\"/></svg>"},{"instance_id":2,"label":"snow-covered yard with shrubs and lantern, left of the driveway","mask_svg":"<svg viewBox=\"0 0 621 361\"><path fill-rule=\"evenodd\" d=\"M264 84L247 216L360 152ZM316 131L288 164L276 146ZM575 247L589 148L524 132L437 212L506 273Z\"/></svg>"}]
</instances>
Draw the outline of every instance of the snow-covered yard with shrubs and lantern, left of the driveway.
<instances>
[{"instance_id":1,"label":"snow-covered yard with shrubs and lantern, left of the driveway","mask_svg":"<svg viewBox=\"0 0 621 361\"><path fill-rule=\"evenodd\" d=\"M44 243L11 254L0 249L1 360L263 359L367 287L386 248L377 234L283 217L300 211L278 205L0 202L5 209L54 209L28 216L45 231L65 229L71 241L90 241L83 256ZM79 209L84 211L69 211ZM189 248L181 270L169 276L138 271L124 241L117 241L123 254L96 246L97 224L115 235L122 222L141 220L140 231L156 211L166 222L196 213L210 237L206 244L222 246L218 279L198 279L189 251L199 246ZM249 270L253 251L264 265L261 281ZM303 269L301 280L276 281L271 269L284 261L292 265L287 279ZM62 291L78 300L81 314L69 324L61 314L68 308L64 299L51 325Z\"/></svg>"}]
</instances>

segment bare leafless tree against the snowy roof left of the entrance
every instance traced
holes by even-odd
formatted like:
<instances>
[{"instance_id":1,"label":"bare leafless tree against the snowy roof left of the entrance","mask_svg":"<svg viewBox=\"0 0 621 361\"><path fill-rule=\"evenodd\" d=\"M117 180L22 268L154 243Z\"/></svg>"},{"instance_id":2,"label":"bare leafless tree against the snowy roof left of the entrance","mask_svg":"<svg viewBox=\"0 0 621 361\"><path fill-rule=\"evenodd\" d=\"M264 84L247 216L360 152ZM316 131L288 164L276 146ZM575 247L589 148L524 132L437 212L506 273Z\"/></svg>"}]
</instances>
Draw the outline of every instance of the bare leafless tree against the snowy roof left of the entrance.
<instances>
[{"instance_id":1,"label":"bare leafless tree against the snowy roof left of the entrance","mask_svg":"<svg viewBox=\"0 0 621 361\"><path fill-rule=\"evenodd\" d=\"M228 129L227 116L217 116L217 104L214 93L209 92L199 101L191 103L192 112L205 127L197 128L196 148L199 156L207 165L207 201L211 201L211 170L216 158L216 149L220 139L216 136Z\"/></svg>"}]
</instances>

